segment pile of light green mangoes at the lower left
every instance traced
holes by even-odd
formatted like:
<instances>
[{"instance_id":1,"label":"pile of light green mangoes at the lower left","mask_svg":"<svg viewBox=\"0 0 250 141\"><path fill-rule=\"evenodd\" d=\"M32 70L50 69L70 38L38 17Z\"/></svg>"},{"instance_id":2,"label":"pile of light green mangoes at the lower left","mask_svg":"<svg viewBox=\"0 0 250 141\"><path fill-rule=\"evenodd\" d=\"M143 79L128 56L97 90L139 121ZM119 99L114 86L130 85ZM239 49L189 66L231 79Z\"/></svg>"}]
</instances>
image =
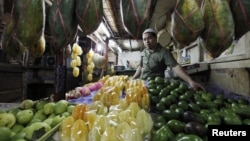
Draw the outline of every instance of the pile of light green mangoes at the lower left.
<instances>
[{"instance_id":1,"label":"pile of light green mangoes at the lower left","mask_svg":"<svg viewBox=\"0 0 250 141\"><path fill-rule=\"evenodd\" d=\"M18 107L0 112L0 141L36 140L71 115L74 107L66 100L23 100Z\"/></svg>"}]
</instances>

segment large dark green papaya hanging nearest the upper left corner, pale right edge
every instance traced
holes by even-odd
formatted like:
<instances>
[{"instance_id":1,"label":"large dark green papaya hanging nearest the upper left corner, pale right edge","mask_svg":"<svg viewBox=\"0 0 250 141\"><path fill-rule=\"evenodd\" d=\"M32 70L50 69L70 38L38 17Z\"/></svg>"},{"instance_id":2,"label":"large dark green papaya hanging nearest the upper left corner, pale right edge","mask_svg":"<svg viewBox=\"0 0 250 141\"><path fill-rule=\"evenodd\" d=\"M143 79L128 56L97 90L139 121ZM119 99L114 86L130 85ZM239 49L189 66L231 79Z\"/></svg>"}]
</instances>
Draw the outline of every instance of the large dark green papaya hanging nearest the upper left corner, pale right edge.
<instances>
[{"instance_id":1,"label":"large dark green papaya hanging nearest the upper left corner, pale right edge","mask_svg":"<svg viewBox=\"0 0 250 141\"><path fill-rule=\"evenodd\" d=\"M45 27L44 0L17 0L14 2L16 36L25 47L38 42Z\"/></svg>"}]
</instances>

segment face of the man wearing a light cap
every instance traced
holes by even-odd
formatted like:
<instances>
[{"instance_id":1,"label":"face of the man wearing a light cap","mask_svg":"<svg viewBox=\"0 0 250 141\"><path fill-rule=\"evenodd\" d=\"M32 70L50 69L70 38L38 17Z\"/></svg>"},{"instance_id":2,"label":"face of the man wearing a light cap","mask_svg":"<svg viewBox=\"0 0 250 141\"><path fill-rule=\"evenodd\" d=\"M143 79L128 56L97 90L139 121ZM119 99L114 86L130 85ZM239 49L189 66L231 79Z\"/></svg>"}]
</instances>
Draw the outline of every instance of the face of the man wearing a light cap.
<instances>
[{"instance_id":1,"label":"face of the man wearing a light cap","mask_svg":"<svg viewBox=\"0 0 250 141\"><path fill-rule=\"evenodd\" d=\"M148 49L154 49L156 47L157 38L153 36L152 33L144 33L142 40L144 46L147 47Z\"/></svg>"}]
</instances>

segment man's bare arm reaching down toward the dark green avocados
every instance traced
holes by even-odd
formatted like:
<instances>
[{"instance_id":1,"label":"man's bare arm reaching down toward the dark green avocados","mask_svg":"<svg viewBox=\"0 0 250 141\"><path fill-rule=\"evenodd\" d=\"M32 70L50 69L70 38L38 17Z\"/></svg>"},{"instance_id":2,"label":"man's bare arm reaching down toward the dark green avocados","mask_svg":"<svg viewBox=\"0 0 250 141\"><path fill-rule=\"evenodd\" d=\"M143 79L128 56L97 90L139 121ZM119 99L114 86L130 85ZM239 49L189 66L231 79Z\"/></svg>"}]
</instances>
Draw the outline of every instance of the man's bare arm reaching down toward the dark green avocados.
<instances>
[{"instance_id":1,"label":"man's bare arm reaching down toward the dark green avocados","mask_svg":"<svg viewBox=\"0 0 250 141\"><path fill-rule=\"evenodd\" d=\"M173 67L173 71L177 76L179 76L181 79L186 81L194 90L198 90L198 88L202 89L203 91L206 91L206 89L199 83L195 82L182 68L180 65L176 65Z\"/></svg>"}]
</instances>

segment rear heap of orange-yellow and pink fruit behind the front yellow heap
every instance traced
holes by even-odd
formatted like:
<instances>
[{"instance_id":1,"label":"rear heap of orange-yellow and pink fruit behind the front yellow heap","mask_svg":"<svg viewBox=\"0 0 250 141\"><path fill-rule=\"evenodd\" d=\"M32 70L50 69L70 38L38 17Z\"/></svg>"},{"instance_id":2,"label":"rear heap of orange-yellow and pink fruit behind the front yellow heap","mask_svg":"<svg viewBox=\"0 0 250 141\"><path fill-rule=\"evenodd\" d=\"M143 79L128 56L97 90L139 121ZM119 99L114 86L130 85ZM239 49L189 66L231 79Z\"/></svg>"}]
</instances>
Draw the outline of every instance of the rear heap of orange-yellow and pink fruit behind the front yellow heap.
<instances>
[{"instance_id":1,"label":"rear heap of orange-yellow and pink fruit behind the front yellow heap","mask_svg":"<svg viewBox=\"0 0 250 141\"><path fill-rule=\"evenodd\" d=\"M66 93L66 99L72 103L102 101L108 107L118 104L122 98L128 103L138 103L145 110L149 109L149 95L144 81L128 80L127 75L106 75L97 82L87 83Z\"/></svg>"}]
</instances>

